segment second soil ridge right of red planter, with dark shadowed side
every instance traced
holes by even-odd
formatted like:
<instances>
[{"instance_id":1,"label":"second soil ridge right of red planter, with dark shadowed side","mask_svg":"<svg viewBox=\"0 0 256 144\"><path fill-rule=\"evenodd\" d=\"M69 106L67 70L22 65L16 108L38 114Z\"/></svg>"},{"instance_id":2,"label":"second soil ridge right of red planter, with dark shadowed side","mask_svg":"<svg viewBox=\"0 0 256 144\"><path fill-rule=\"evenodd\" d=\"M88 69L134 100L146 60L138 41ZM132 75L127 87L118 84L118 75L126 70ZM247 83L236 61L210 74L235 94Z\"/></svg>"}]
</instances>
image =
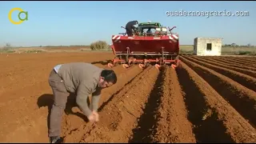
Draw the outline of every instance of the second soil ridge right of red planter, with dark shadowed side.
<instances>
[{"instance_id":1,"label":"second soil ridge right of red planter, with dark shadowed side","mask_svg":"<svg viewBox=\"0 0 256 144\"><path fill-rule=\"evenodd\" d=\"M206 80L230 105L234 107L250 124L256 128L256 92L247 89L245 86L234 82L214 70L200 66L195 62L190 62L186 58L181 58L188 66Z\"/></svg>"}]
</instances>

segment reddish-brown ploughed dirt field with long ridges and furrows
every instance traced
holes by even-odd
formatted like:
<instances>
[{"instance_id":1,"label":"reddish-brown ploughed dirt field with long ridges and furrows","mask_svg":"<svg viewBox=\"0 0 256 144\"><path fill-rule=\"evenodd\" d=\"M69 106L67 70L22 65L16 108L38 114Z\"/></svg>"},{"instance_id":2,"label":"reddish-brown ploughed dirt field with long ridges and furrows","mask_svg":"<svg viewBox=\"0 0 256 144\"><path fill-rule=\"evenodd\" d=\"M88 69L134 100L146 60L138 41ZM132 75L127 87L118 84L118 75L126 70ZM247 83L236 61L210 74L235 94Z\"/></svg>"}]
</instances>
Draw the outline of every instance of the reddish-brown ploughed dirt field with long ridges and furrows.
<instances>
[{"instance_id":1,"label":"reddish-brown ploughed dirt field with long ridges and furrows","mask_svg":"<svg viewBox=\"0 0 256 144\"><path fill-rule=\"evenodd\" d=\"M106 67L111 53L0 54L0 142L49 142L50 70L59 63ZM182 69L116 66L102 91L100 122L86 122L74 96L65 142L256 142L256 58L182 55Z\"/></svg>"}]
</instances>

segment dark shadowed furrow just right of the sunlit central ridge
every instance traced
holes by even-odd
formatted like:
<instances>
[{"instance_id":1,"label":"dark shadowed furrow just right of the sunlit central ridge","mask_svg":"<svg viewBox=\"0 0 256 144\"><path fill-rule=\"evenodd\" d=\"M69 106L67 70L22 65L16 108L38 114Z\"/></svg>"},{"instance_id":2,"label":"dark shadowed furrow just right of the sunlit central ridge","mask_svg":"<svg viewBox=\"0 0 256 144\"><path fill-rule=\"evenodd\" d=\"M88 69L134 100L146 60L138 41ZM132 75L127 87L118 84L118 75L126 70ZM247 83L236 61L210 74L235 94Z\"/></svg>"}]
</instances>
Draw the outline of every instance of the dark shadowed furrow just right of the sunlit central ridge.
<instances>
[{"instance_id":1,"label":"dark shadowed furrow just right of the sunlit central ridge","mask_svg":"<svg viewBox=\"0 0 256 144\"><path fill-rule=\"evenodd\" d=\"M186 69L177 70L178 80L182 86L184 101L188 111L188 119L194 125L193 132L196 141L202 142L233 142L222 122L210 117L210 106L207 105L205 95L190 78Z\"/></svg>"}]
</instances>

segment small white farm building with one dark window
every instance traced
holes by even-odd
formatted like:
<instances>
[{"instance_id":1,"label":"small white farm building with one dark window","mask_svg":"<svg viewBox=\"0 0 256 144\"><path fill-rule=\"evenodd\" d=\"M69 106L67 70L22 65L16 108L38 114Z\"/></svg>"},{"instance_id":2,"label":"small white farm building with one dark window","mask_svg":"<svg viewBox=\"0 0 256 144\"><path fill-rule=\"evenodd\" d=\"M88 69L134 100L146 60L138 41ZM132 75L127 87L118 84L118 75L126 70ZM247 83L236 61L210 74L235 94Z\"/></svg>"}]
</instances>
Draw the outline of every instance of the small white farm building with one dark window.
<instances>
[{"instance_id":1,"label":"small white farm building with one dark window","mask_svg":"<svg viewBox=\"0 0 256 144\"><path fill-rule=\"evenodd\" d=\"M218 56L222 54L222 38L194 38L194 54Z\"/></svg>"}]
</instances>

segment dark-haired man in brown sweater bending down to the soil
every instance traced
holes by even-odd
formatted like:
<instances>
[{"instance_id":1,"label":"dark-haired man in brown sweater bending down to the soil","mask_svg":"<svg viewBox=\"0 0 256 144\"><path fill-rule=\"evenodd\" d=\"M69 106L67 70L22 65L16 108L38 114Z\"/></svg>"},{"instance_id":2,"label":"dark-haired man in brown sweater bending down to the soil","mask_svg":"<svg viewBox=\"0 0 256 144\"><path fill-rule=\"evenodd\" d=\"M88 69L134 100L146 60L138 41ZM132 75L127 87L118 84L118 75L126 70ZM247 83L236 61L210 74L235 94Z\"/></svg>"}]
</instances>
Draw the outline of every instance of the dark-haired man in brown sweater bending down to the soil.
<instances>
[{"instance_id":1,"label":"dark-haired man in brown sweater bending down to the soil","mask_svg":"<svg viewBox=\"0 0 256 144\"><path fill-rule=\"evenodd\" d=\"M76 94L76 103L90 122L98 122L98 101L102 88L117 82L113 70L103 70L85 62L72 62L55 66L50 72L49 84L54 93L54 104L50 112L50 143L62 143L62 114L66 108L67 97ZM91 106L87 98L92 94ZM90 108L89 108L90 107Z\"/></svg>"}]
</instances>

